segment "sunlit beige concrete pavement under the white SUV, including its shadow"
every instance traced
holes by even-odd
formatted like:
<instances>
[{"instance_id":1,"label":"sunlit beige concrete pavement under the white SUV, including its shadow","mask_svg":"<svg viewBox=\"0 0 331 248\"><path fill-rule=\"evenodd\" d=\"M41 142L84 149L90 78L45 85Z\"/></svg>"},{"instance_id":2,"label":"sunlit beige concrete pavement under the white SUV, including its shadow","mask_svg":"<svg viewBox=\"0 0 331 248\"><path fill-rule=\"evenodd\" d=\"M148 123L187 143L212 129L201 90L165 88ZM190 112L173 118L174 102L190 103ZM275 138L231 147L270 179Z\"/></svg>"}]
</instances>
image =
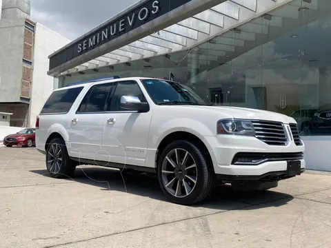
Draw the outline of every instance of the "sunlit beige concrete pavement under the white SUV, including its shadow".
<instances>
[{"instance_id":1,"label":"sunlit beige concrete pavement under the white SUV, including its shadow","mask_svg":"<svg viewBox=\"0 0 331 248\"><path fill-rule=\"evenodd\" d=\"M46 174L35 149L0 147L0 247L331 247L331 176L303 174L264 193L219 187L194 207L157 180L77 168Z\"/></svg>"}]
</instances>

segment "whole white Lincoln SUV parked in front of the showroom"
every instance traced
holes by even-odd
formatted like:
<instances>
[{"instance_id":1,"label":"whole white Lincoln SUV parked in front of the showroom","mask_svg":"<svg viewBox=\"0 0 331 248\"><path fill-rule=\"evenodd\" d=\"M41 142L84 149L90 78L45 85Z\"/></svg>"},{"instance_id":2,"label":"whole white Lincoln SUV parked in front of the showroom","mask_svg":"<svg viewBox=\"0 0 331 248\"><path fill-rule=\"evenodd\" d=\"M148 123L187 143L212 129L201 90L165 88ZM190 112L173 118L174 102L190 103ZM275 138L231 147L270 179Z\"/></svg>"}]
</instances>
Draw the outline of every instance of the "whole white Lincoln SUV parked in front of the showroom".
<instances>
[{"instance_id":1,"label":"whole white Lincoln SUV parked in front of the showroom","mask_svg":"<svg viewBox=\"0 0 331 248\"><path fill-rule=\"evenodd\" d=\"M156 173L174 203L198 203L216 183L265 190L305 171L289 116L213 106L163 79L97 79L54 90L36 123L37 149L54 178L77 165Z\"/></svg>"}]
</instances>

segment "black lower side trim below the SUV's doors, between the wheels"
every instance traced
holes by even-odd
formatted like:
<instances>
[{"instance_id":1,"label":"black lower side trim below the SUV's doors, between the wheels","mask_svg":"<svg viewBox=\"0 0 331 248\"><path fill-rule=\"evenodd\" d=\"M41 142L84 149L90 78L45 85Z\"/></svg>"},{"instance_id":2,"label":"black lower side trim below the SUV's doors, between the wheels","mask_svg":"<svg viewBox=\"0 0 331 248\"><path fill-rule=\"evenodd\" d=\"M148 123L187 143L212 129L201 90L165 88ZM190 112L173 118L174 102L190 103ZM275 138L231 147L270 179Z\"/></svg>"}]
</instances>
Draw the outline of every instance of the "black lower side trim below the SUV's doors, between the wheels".
<instances>
[{"instance_id":1,"label":"black lower side trim below the SUV's doors, between the wheels","mask_svg":"<svg viewBox=\"0 0 331 248\"><path fill-rule=\"evenodd\" d=\"M94 161L92 159L85 159L85 158L72 158L70 157L72 161L77 161L79 165L99 165L103 167L110 167L110 168L117 168L117 169L132 169L138 172L148 172L152 174L157 173L156 168L150 168L150 167L142 167L137 165L124 165L120 163L110 163L106 161Z\"/></svg>"}]
</instances>

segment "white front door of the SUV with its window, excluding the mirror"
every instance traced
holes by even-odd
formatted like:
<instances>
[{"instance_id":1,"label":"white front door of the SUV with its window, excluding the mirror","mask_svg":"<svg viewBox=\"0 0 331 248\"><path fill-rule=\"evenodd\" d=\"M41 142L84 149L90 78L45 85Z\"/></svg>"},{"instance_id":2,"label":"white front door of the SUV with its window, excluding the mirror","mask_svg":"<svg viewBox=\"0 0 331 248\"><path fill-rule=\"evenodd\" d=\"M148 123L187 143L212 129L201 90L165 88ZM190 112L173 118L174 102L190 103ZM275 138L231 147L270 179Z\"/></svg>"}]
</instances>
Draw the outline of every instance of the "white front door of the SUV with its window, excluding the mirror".
<instances>
[{"instance_id":1,"label":"white front door of the SUV with its window, excluding the mirror","mask_svg":"<svg viewBox=\"0 0 331 248\"><path fill-rule=\"evenodd\" d=\"M137 81L117 83L107 112L103 115L101 160L144 166L152 111L139 113L123 110L120 107L121 96L138 96L141 102L147 102Z\"/></svg>"}]
</instances>

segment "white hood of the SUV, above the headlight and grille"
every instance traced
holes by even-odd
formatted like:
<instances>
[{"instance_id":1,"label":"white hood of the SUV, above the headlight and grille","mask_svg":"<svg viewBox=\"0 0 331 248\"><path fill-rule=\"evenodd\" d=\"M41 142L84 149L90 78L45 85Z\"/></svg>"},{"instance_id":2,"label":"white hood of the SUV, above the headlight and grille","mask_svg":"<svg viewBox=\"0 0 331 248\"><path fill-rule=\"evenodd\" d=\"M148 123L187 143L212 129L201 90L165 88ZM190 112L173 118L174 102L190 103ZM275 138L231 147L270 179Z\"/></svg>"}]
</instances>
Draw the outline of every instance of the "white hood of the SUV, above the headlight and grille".
<instances>
[{"instance_id":1,"label":"white hood of the SUV, above the headlight and grille","mask_svg":"<svg viewBox=\"0 0 331 248\"><path fill-rule=\"evenodd\" d=\"M188 107L186 105L186 107ZM277 112L271 112L266 110L255 110L245 107L224 107L224 106L194 106L189 107L202 107L208 110L215 110L217 112L223 112L230 114L233 118L249 119L249 120L264 120L264 121L278 121L285 124L297 123L294 118L286 116L285 114L279 114Z\"/></svg>"}]
</instances>

